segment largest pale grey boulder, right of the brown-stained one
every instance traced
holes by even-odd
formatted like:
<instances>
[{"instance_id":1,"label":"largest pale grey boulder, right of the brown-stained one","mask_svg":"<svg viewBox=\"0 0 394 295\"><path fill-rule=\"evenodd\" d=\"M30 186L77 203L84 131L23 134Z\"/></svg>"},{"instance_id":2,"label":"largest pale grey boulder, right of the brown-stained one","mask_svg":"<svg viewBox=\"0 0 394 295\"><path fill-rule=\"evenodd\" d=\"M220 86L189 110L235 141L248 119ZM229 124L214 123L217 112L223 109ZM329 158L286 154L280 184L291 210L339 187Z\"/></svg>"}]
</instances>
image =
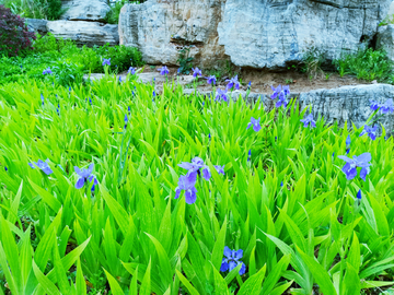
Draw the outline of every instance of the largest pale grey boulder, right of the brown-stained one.
<instances>
[{"instance_id":1,"label":"largest pale grey boulder, right of the brown-stained one","mask_svg":"<svg viewBox=\"0 0 394 295\"><path fill-rule=\"evenodd\" d=\"M391 0L228 0L219 43L240 67L282 69L305 54L355 52L378 31ZM385 15L385 14L384 14Z\"/></svg>"}]
</instances>

